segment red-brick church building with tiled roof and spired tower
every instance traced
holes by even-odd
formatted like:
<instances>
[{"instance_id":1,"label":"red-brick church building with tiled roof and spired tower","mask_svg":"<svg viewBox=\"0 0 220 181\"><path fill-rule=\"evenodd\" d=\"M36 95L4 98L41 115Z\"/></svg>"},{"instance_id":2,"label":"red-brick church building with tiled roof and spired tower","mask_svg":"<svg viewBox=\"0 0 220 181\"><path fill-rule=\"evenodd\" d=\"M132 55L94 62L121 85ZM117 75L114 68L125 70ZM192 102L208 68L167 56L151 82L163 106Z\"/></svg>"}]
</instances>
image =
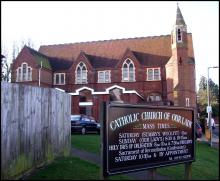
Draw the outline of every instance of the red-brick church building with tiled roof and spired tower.
<instances>
[{"instance_id":1,"label":"red-brick church building with tiled roof and spired tower","mask_svg":"<svg viewBox=\"0 0 220 181\"><path fill-rule=\"evenodd\" d=\"M119 89L125 103L196 107L192 34L177 6L169 35L24 46L12 82L59 88L72 96L72 114L96 120L99 105Z\"/></svg>"}]
</instances>

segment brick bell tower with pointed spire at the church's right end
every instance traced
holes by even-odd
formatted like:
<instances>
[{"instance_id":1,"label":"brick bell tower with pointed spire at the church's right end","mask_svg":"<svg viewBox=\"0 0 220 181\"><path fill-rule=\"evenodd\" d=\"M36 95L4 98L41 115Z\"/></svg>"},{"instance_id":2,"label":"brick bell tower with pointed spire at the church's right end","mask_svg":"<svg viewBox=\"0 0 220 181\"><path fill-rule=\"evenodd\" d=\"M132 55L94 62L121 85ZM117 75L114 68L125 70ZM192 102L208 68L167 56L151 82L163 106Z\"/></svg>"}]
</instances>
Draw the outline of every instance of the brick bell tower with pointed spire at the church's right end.
<instances>
[{"instance_id":1,"label":"brick bell tower with pointed spire at the church's right end","mask_svg":"<svg viewBox=\"0 0 220 181\"><path fill-rule=\"evenodd\" d=\"M171 31L172 57L166 64L167 98L174 106L195 107L195 62L188 56L187 26L177 4Z\"/></svg>"}]
</instances>

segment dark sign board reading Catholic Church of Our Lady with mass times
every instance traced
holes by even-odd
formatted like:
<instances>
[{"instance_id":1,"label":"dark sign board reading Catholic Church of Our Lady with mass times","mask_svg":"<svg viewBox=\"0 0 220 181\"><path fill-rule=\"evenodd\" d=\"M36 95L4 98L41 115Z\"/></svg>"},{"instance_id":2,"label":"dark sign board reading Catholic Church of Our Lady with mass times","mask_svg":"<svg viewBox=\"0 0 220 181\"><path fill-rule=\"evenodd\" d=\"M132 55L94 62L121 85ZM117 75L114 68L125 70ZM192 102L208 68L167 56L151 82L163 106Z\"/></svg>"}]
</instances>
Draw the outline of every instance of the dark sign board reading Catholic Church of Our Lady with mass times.
<instances>
[{"instance_id":1,"label":"dark sign board reading Catholic Church of Our Lady with mass times","mask_svg":"<svg viewBox=\"0 0 220 181\"><path fill-rule=\"evenodd\" d=\"M193 109L107 104L103 174L195 161Z\"/></svg>"}]
</instances>

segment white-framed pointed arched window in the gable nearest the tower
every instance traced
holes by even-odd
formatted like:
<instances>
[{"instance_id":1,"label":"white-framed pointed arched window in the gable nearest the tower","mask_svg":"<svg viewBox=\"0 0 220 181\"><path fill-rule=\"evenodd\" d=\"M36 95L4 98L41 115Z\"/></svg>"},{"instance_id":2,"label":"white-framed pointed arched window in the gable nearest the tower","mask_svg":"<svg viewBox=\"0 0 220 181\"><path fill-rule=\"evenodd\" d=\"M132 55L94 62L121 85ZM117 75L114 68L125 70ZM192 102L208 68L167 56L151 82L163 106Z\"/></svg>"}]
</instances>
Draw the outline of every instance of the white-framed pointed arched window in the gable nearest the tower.
<instances>
[{"instance_id":1,"label":"white-framed pointed arched window in the gable nearest the tower","mask_svg":"<svg viewBox=\"0 0 220 181\"><path fill-rule=\"evenodd\" d=\"M134 63L130 59L126 59L122 65L122 81L135 81L135 67Z\"/></svg>"}]
</instances>

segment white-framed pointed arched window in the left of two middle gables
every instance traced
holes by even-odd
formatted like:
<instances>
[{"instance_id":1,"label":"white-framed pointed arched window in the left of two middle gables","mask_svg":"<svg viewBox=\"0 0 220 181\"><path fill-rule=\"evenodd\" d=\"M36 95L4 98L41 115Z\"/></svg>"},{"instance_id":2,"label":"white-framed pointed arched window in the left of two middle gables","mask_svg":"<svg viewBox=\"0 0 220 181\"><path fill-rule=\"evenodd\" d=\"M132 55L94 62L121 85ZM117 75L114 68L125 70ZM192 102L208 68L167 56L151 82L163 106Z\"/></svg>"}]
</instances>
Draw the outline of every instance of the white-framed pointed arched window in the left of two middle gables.
<instances>
[{"instance_id":1,"label":"white-framed pointed arched window in the left of two middle gables","mask_svg":"<svg viewBox=\"0 0 220 181\"><path fill-rule=\"evenodd\" d=\"M85 84L87 83L87 68L83 62L80 62L76 67L76 84Z\"/></svg>"}]
</instances>

